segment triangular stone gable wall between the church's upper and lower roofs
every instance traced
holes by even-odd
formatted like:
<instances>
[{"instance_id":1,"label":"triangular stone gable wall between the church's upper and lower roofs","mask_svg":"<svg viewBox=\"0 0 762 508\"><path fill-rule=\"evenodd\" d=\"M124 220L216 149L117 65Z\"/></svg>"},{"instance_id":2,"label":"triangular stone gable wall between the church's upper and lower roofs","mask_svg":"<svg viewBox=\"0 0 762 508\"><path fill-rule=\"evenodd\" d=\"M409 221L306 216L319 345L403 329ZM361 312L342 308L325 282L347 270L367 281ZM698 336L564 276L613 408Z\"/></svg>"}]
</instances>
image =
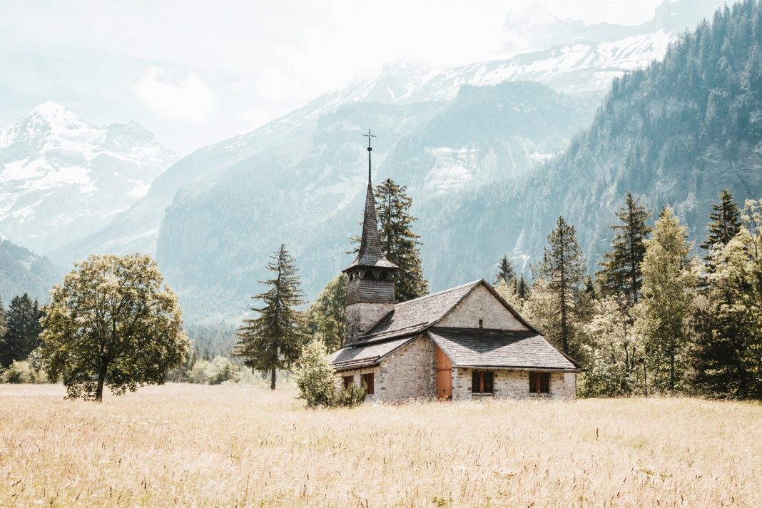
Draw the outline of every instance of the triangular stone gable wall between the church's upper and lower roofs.
<instances>
[{"instance_id":1,"label":"triangular stone gable wall between the church's upper and lower roofs","mask_svg":"<svg viewBox=\"0 0 762 508\"><path fill-rule=\"evenodd\" d=\"M527 327L482 285L477 286L463 302L456 305L437 326L478 328L480 319L485 328L527 330Z\"/></svg>"}]
</instances>

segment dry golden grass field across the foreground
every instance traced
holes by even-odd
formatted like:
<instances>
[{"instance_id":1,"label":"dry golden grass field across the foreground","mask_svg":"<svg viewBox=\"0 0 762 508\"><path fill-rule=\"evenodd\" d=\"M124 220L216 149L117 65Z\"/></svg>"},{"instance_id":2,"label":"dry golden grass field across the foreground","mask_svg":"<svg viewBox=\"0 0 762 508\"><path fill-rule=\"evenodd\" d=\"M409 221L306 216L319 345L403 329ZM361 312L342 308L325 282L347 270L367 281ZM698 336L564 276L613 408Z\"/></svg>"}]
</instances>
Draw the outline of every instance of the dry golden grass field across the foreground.
<instances>
[{"instance_id":1,"label":"dry golden grass field across the foreground","mask_svg":"<svg viewBox=\"0 0 762 508\"><path fill-rule=\"evenodd\" d=\"M0 506L762 506L762 405L0 385Z\"/></svg>"}]
</instances>

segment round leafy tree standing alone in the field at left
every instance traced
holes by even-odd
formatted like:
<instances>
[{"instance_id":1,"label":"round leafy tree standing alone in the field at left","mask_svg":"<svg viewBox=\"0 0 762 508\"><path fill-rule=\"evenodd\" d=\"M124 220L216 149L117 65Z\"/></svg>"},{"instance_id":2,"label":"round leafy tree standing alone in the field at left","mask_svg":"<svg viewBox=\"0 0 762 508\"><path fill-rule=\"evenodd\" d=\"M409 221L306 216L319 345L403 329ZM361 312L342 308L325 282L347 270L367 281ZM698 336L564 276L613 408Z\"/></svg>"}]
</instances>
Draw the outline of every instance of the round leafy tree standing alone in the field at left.
<instances>
[{"instance_id":1,"label":"round leafy tree standing alone in the field at left","mask_svg":"<svg viewBox=\"0 0 762 508\"><path fill-rule=\"evenodd\" d=\"M187 350L174 293L150 256L92 255L54 286L44 318L43 358L67 398L101 401L162 384Z\"/></svg>"}]
</instances>

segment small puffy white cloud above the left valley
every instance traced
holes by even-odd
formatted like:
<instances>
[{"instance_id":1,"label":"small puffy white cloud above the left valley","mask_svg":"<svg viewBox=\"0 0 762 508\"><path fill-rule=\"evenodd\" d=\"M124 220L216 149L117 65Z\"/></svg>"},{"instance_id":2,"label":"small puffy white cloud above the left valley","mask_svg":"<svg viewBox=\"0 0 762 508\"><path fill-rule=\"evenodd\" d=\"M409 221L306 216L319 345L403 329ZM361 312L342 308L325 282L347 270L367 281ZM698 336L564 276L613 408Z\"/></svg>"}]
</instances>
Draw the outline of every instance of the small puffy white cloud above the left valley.
<instances>
[{"instance_id":1,"label":"small puffy white cloud above the left valley","mask_svg":"<svg viewBox=\"0 0 762 508\"><path fill-rule=\"evenodd\" d=\"M209 120L217 102L217 96L195 72L178 81L155 65L146 69L133 93L159 117L193 123Z\"/></svg>"}]
</instances>

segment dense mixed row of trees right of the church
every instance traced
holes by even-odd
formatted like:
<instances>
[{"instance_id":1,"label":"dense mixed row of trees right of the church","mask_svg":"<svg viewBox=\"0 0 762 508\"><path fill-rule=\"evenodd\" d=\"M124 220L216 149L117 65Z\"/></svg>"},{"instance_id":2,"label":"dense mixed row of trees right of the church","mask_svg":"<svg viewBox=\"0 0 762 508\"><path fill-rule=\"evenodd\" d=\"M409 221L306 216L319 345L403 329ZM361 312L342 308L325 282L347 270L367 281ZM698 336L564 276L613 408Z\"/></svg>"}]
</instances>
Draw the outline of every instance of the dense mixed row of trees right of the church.
<instances>
[{"instance_id":1,"label":"dense mixed row of trees right of the church","mask_svg":"<svg viewBox=\"0 0 762 508\"><path fill-rule=\"evenodd\" d=\"M594 276L559 217L531 288L507 257L496 286L586 367L582 396L762 398L762 201L723 190L712 209L698 257L670 207L650 225L628 193Z\"/></svg>"}]
</instances>

